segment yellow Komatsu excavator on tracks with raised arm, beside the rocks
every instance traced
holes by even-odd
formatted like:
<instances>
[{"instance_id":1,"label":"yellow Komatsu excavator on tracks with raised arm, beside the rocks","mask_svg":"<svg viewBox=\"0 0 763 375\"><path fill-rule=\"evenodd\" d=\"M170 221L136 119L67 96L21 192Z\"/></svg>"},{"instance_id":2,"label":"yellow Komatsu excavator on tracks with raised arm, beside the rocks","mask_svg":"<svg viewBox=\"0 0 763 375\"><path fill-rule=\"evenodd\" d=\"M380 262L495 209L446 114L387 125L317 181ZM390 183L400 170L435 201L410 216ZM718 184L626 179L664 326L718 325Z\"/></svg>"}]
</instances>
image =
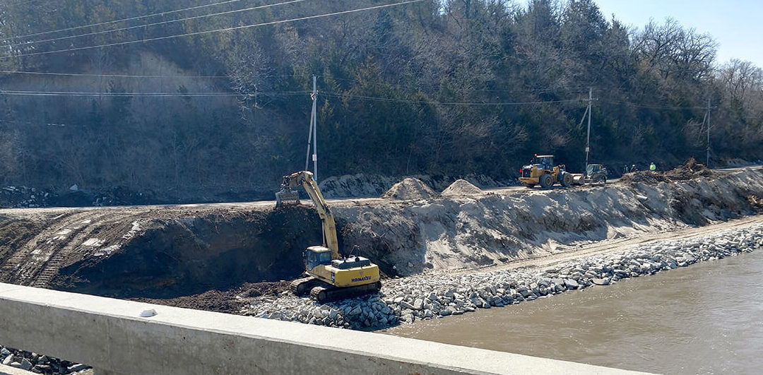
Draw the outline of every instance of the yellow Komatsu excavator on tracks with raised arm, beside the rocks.
<instances>
[{"instance_id":1,"label":"yellow Komatsu excavator on tracks with raised arm, beside the rocks","mask_svg":"<svg viewBox=\"0 0 763 375\"><path fill-rule=\"evenodd\" d=\"M321 303L378 292L381 289L378 265L362 256L340 255L336 222L313 173L298 171L286 175L281 186L281 191L275 193L275 207L299 204L299 194L294 188L304 187L315 204L324 232L323 245L310 246L304 252L307 277L291 281L291 290L298 296L310 293Z\"/></svg>"}]
</instances>

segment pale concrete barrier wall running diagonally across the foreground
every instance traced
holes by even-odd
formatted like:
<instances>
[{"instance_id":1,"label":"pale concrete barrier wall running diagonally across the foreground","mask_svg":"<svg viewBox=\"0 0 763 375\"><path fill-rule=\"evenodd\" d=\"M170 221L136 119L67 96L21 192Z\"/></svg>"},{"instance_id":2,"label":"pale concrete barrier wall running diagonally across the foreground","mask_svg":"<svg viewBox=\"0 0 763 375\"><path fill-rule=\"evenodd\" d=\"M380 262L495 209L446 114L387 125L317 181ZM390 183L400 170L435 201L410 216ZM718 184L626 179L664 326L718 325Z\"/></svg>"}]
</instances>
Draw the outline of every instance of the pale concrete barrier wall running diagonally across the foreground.
<instances>
[{"instance_id":1,"label":"pale concrete barrier wall running diagonally across the foreground","mask_svg":"<svg viewBox=\"0 0 763 375\"><path fill-rule=\"evenodd\" d=\"M0 284L0 343L101 374L633 373L11 284Z\"/></svg>"}]
</instances>

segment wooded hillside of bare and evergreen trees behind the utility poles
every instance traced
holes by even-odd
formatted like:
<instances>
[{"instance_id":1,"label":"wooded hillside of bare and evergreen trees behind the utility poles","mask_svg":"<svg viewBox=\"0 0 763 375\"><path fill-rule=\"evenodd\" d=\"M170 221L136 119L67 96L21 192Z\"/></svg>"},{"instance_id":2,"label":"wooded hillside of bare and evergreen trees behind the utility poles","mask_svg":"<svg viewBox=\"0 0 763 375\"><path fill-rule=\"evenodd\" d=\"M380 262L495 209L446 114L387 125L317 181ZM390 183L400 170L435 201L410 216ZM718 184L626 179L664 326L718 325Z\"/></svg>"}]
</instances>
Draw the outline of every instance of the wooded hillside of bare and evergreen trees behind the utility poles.
<instances>
[{"instance_id":1,"label":"wooded hillside of bare and evergreen trees behind the utility poles","mask_svg":"<svg viewBox=\"0 0 763 375\"><path fill-rule=\"evenodd\" d=\"M304 168L312 75L324 178L506 178L535 152L580 171L589 88L591 162L703 160L708 102L712 160L763 157L763 72L716 61L712 36L672 19L626 27L593 0L424 0L278 23L391 3L6 2L0 184L272 190ZM100 95L40 94L53 91Z\"/></svg>"}]
</instances>

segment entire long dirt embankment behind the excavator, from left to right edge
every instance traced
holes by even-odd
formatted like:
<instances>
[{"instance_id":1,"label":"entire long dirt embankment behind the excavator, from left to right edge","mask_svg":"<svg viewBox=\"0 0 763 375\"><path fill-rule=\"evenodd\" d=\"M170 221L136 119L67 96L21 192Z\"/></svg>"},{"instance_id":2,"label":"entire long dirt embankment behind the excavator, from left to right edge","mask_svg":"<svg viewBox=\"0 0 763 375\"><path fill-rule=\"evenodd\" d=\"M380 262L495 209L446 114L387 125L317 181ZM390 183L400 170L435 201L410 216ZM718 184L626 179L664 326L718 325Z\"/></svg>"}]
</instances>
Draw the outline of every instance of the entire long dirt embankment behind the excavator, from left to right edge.
<instances>
[{"instance_id":1,"label":"entire long dirt embankment behind the excavator, from left to right edge","mask_svg":"<svg viewBox=\"0 0 763 375\"><path fill-rule=\"evenodd\" d=\"M505 264L754 214L763 171L549 191L476 194L453 185L439 197L336 201L341 249L359 246L390 275ZM312 207L274 210L272 202L0 210L0 231L0 280L118 297L242 285L238 295L281 293L284 284L260 290L246 283L298 277L304 247L321 242ZM232 308L214 302L223 294L209 293L175 302Z\"/></svg>"}]
</instances>

